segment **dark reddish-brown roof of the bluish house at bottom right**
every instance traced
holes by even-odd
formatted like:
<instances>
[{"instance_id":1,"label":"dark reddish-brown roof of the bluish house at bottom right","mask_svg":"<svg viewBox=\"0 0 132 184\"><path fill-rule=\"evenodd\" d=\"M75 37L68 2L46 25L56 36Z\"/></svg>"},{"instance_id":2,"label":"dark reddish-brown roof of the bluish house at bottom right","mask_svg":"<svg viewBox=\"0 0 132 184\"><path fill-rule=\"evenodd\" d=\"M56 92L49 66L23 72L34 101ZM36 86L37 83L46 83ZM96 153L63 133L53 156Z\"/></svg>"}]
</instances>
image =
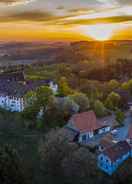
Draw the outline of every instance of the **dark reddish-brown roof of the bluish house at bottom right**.
<instances>
[{"instance_id":1,"label":"dark reddish-brown roof of the bluish house at bottom right","mask_svg":"<svg viewBox=\"0 0 132 184\"><path fill-rule=\"evenodd\" d=\"M126 141L120 141L103 151L103 154L107 155L112 162L115 162L129 151L131 151L129 144Z\"/></svg>"}]
</instances>

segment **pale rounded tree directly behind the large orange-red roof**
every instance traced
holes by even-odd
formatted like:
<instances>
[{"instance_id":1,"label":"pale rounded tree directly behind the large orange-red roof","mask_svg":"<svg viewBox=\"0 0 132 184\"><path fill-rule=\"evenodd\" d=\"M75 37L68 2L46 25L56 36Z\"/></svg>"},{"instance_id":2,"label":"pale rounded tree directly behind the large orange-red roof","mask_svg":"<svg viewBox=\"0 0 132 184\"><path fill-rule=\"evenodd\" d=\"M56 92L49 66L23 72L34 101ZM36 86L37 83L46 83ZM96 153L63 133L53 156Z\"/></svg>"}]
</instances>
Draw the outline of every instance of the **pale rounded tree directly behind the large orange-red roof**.
<instances>
[{"instance_id":1,"label":"pale rounded tree directly behind the large orange-red roof","mask_svg":"<svg viewBox=\"0 0 132 184\"><path fill-rule=\"evenodd\" d=\"M87 111L89 109L89 99L84 93L75 93L70 98L79 105L80 111Z\"/></svg>"}]
</instances>

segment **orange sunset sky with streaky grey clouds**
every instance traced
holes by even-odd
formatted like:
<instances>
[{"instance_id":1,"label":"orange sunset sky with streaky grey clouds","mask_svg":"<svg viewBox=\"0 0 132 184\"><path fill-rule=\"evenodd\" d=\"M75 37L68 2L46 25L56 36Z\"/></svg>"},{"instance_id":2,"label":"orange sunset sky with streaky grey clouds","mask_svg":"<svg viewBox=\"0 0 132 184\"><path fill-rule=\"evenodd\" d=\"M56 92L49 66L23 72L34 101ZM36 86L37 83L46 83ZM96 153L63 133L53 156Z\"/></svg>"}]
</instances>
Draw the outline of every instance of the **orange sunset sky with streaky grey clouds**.
<instances>
[{"instance_id":1,"label":"orange sunset sky with streaky grey clouds","mask_svg":"<svg viewBox=\"0 0 132 184\"><path fill-rule=\"evenodd\" d=\"M0 40L132 39L132 0L0 0Z\"/></svg>"}]
</instances>

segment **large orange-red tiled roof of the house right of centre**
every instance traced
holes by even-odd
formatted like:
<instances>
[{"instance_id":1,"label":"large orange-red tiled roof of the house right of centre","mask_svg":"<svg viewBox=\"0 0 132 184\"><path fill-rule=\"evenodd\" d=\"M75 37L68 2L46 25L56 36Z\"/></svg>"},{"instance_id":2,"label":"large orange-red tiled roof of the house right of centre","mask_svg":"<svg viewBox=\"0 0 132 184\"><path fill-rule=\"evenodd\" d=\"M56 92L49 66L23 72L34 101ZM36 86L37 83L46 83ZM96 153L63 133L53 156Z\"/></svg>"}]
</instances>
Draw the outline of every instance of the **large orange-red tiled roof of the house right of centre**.
<instances>
[{"instance_id":1,"label":"large orange-red tiled roof of the house right of centre","mask_svg":"<svg viewBox=\"0 0 132 184\"><path fill-rule=\"evenodd\" d=\"M91 132L104 127L104 125L101 125L101 123L97 121L93 111L75 114L72 116L71 120L80 132Z\"/></svg>"}]
</instances>

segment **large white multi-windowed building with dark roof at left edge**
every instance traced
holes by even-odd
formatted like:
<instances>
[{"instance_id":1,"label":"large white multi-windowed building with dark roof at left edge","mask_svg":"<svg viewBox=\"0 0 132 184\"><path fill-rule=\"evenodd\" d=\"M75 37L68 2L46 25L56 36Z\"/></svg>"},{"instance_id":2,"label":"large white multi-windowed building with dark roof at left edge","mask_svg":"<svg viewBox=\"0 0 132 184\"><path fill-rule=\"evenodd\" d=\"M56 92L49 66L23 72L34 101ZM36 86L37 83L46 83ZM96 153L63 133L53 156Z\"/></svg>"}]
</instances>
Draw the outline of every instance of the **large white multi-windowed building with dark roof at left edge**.
<instances>
[{"instance_id":1,"label":"large white multi-windowed building with dark roof at left edge","mask_svg":"<svg viewBox=\"0 0 132 184\"><path fill-rule=\"evenodd\" d=\"M25 94L44 85L49 86L53 93L58 91L58 85L51 80L26 81L23 72L1 74L0 107L12 112L21 112L26 104Z\"/></svg>"}]
</instances>

